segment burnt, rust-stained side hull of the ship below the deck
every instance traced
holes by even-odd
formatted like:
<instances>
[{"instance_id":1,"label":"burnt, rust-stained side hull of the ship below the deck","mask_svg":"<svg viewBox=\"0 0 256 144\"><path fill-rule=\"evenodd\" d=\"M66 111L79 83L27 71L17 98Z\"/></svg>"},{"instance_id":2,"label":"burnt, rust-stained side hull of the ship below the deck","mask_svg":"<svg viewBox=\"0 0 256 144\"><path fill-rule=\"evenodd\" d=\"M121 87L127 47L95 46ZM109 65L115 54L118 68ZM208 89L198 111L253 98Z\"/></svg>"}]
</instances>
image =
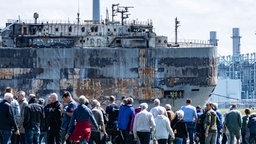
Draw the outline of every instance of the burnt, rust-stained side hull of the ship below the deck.
<instances>
[{"instance_id":1,"label":"burnt, rust-stained side hull of the ship below the deck","mask_svg":"<svg viewBox=\"0 0 256 144\"><path fill-rule=\"evenodd\" d=\"M169 91L208 97L217 83L216 48L0 48L0 88L46 96L171 98ZM209 92L210 91L210 92ZM167 94L166 94L167 92Z\"/></svg>"}]
</instances>

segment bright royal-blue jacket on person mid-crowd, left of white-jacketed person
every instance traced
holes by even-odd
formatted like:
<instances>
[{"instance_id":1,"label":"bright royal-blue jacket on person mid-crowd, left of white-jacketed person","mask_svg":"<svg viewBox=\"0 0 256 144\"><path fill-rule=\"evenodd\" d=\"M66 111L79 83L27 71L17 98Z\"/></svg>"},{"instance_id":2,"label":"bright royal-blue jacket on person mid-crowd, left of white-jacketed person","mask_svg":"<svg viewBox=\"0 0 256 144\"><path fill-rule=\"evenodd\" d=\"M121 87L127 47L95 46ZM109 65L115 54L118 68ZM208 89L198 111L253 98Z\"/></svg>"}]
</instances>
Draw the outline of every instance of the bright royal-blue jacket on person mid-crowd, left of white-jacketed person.
<instances>
[{"instance_id":1,"label":"bright royal-blue jacket on person mid-crowd, left of white-jacketed person","mask_svg":"<svg viewBox=\"0 0 256 144\"><path fill-rule=\"evenodd\" d=\"M121 130L130 130L132 116L135 114L132 105L122 105L119 109L117 128Z\"/></svg>"}]
</instances>

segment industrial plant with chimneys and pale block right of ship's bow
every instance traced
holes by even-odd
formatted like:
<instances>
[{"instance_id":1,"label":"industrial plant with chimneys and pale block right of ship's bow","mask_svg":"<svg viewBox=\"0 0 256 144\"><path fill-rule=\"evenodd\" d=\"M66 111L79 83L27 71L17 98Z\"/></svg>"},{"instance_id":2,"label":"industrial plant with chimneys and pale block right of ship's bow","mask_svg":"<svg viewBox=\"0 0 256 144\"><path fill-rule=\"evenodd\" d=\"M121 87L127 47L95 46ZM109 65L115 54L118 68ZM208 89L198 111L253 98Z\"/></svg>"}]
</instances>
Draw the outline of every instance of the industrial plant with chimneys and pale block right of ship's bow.
<instances>
[{"instance_id":1,"label":"industrial plant with chimneys and pale block right of ship's bow","mask_svg":"<svg viewBox=\"0 0 256 144\"><path fill-rule=\"evenodd\" d=\"M256 53L240 53L239 28L233 28L233 55L218 57L218 84L210 101L220 104L235 102L243 107L255 107ZM210 42L216 39L211 34Z\"/></svg>"}]
</instances>

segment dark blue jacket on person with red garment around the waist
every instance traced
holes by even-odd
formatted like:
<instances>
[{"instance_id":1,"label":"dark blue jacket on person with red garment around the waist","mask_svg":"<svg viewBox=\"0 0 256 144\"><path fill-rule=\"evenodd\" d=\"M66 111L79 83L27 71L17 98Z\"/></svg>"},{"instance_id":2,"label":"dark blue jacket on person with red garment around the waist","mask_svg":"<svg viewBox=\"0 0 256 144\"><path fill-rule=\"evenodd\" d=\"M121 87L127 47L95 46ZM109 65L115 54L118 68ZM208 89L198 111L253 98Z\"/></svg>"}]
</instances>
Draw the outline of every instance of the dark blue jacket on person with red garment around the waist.
<instances>
[{"instance_id":1,"label":"dark blue jacket on person with red garment around the waist","mask_svg":"<svg viewBox=\"0 0 256 144\"><path fill-rule=\"evenodd\" d=\"M74 128L75 125L75 121L76 122L80 122L80 121L86 121L86 120L91 120L92 124L94 124L94 126L98 129L99 126L92 114L91 109L89 109L86 105L84 104L80 104L78 105L78 107L74 110L72 117L70 119L70 123L68 125L68 134L72 133L72 130Z\"/></svg>"}]
</instances>

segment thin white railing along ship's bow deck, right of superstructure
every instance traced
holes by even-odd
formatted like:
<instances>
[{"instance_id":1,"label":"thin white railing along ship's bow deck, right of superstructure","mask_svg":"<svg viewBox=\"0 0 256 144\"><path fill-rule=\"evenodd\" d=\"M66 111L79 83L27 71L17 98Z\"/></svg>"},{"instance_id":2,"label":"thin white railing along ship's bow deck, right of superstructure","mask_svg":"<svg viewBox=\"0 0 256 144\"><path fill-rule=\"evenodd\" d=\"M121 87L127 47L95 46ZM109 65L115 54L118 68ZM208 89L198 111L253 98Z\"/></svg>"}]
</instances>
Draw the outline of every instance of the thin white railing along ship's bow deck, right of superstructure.
<instances>
[{"instance_id":1,"label":"thin white railing along ship's bow deck, right of superstructure","mask_svg":"<svg viewBox=\"0 0 256 144\"><path fill-rule=\"evenodd\" d=\"M168 42L170 47L212 47L214 46L207 40L181 40L177 44L175 42Z\"/></svg>"}]
</instances>

